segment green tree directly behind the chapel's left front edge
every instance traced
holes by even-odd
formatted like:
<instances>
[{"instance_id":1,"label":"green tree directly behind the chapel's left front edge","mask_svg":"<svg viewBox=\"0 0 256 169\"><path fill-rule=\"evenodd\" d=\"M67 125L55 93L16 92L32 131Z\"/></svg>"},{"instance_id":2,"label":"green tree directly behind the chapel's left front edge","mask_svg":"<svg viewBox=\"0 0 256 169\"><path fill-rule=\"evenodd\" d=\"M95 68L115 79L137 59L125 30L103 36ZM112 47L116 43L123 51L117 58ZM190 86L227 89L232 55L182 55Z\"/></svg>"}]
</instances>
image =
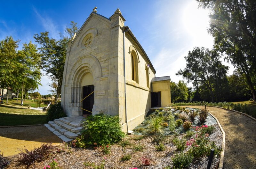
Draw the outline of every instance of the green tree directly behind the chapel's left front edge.
<instances>
[{"instance_id":1,"label":"green tree directly behind the chapel's left front edge","mask_svg":"<svg viewBox=\"0 0 256 169\"><path fill-rule=\"evenodd\" d=\"M78 30L76 23L71 22L70 25L71 28L67 28L66 30L70 37L64 37L60 34L60 40L49 38L49 32L41 32L40 35L34 35L35 41L41 46L39 50L42 54L42 68L46 72L46 75L50 77L57 85L55 88L55 102L58 102L61 94L62 78L68 43L74 36L73 33Z\"/></svg>"}]
</instances>

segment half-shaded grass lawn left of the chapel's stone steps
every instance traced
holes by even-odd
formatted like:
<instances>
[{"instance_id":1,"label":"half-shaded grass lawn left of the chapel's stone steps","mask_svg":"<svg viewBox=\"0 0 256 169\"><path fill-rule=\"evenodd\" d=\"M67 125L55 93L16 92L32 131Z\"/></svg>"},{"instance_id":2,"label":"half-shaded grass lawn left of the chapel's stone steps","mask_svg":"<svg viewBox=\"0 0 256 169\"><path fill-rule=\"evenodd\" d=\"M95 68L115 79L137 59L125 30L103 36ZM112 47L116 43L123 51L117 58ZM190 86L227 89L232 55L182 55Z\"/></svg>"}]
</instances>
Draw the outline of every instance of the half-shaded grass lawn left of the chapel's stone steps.
<instances>
[{"instance_id":1,"label":"half-shaded grass lawn left of the chapel's stone steps","mask_svg":"<svg viewBox=\"0 0 256 169\"><path fill-rule=\"evenodd\" d=\"M15 100L16 101L16 100ZM0 105L0 126L45 124L46 112Z\"/></svg>"}]
</instances>

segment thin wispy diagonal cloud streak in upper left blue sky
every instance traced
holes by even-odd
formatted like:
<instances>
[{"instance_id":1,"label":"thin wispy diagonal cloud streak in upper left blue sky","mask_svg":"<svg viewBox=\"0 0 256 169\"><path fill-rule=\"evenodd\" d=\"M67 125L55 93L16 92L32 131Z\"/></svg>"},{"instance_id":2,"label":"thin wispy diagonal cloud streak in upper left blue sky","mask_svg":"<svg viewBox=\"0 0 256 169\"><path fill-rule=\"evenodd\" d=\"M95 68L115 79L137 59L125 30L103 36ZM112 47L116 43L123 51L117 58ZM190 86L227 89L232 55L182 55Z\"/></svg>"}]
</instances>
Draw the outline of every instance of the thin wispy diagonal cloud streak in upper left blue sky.
<instances>
[{"instance_id":1,"label":"thin wispy diagonal cloud streak in upper left blue sky","mask_svg":"<svg viewBox=\"0 0 256 169\"><path fill-rule=\"evenodd\" d=\"M41 24L44 26L44 29L48 31L53 39L59 39L59 31L57 26L53 23L52 19L48 16L43 17L33 6L33 10L36 13L37 18L40 20Z\"/></svg>"}]
</instances>

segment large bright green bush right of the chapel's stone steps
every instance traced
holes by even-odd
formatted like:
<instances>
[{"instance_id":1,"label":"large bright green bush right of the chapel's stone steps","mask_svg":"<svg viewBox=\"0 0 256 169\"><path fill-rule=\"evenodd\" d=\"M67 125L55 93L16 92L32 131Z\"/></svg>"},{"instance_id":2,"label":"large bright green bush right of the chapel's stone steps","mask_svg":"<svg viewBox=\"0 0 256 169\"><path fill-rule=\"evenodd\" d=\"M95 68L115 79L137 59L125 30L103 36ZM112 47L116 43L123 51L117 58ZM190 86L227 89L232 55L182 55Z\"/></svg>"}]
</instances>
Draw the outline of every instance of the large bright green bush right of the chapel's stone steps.
<instances>
[{"instance_id":1,"label":"large bright green bush right of the chapel's stone steps","mask_svg":"<svg viewBox=\"0 0 256 169\"><path fill-rule=\"evenodd\" d=\"M84 141L88 145L93 143L106 145L121 141L125 134L121 130L118 116L100 113L89 115L86 118L82 136L84 136Z\"/></svg>"}]
</instances>

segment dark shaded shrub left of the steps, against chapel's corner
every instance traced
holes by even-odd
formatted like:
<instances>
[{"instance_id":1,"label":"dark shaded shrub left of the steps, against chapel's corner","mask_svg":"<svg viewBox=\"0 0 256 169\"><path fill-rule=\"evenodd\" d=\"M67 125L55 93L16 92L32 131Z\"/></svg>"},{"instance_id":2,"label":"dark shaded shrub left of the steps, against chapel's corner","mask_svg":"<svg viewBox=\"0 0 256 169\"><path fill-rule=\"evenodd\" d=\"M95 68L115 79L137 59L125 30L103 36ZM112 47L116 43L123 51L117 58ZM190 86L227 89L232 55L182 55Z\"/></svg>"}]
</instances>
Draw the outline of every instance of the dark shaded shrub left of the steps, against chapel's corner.
<instances>
[{"instance_id":1,"label":"dark shaded shrub left of the steps, against chapel's corner","mask_svg":"<svg viewBox=\"0 0 256 169\"><path fill-rule=\"evenodd\" d=\"M54 119L59 119L60 117L67 117L67 114L64 113L60 102L54 105L51 104L49 109L47 110L47 120L52 121Z\"/></svg>"}]
</instances>

